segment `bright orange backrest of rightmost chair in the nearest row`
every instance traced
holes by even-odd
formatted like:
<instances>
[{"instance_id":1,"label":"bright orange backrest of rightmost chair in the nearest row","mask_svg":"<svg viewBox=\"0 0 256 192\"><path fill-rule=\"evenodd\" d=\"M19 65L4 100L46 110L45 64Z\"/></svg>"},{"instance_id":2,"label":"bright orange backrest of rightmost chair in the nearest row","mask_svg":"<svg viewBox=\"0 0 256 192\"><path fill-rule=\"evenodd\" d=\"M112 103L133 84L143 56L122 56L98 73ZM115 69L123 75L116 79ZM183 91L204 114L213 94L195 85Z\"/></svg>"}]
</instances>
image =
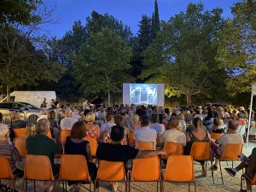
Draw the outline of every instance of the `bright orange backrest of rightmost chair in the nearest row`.
<instances>
[{"instance_id":1,"label":"bright orange backrest of rightmost chair in the nearest row","mask_svg":"<svg viewBox=\"0 0 256 192\"><path fill-rule=\"evenodd\" d=\"M194 181L194 166L191 155L171 155L168 157L164 181Z\"/></svg>"}]
</instances>

